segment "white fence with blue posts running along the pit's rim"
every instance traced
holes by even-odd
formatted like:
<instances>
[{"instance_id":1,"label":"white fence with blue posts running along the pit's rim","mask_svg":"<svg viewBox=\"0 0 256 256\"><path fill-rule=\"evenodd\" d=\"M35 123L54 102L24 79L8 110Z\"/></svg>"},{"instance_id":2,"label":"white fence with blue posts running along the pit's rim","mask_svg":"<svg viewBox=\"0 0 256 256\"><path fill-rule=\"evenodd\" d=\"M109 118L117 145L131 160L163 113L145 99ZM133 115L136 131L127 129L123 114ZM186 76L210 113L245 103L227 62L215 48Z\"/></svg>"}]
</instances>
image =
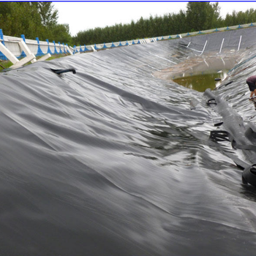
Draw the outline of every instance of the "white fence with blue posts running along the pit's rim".
<instances>
[{"instance_id":1,"label":"white fence with blue posts running along the pit's rim","mask_svg":"<svg viewBox=\"0 0 256 256\"><path fill-rule=\"evenodd\" d=\"M12 67L21 67L23 64L31 61L34 63L35 61L43 61L48 59L52 54L61 54L61 53L84 53L86 51L97 51L104 50L107 48L116 48L127 45L138 45L138 44L146 44L149 42L157 42L159 40L165 39L175 39L182 37L194 36L197 34L208 34L214 33L218 31L227 31L233 29L243 29L249 28L252 26L256 26L256 23L249 23L238 26L230 26L219 29L208 29L205 31L196 31L196 32L188 32L185 34L176 34L170 36L163 37L151 37L146 39L135 39L135 40L127 40L127 41L119 41L119 42L108 42L102 44L94 44L94 45L83 45L83 46L73 46L70 47L67 44L58 42L49 42L48 39L46 41L39 41L38 37L36 40L26 39L24 35L21 37L9 37L5 36L0 29L0 60L9 59L12 62ZM42 56L40 59L36 59L37 56ZM21 59L21 60L19 60Z\"/></svg>"}]
</instances>

